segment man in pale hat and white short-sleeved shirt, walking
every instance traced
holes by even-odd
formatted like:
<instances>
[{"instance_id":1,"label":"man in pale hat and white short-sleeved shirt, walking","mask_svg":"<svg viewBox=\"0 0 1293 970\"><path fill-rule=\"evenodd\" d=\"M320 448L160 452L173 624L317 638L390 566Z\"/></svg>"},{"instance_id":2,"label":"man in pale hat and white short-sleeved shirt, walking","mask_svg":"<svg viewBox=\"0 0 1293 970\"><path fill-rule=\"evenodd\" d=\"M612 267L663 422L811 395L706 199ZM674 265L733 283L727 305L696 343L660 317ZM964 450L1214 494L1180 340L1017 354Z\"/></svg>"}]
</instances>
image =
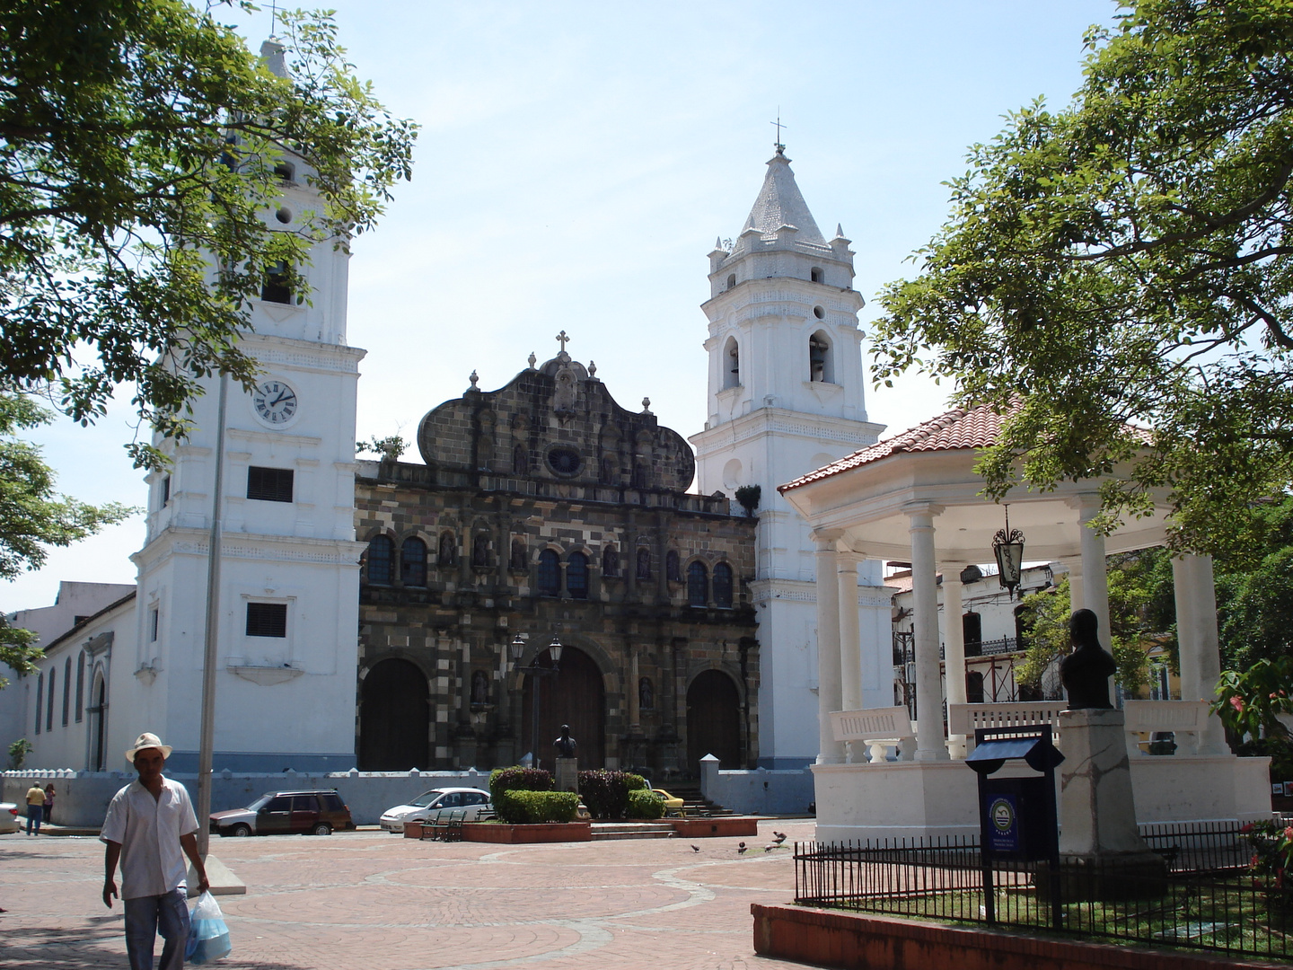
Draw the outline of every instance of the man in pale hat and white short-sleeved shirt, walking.
<instances>
[{"instance_id":1,"label":"man in pale hat and white short-sleeved shirt, walking","mask_svg":"<svg viewBox=\"0 0 1293 970\"><path fill-rule=\"evenodd\" d=\"M153 948L160 932L159 970L182 970L189 938L189 856L198 873L198 892L207 891L207 869L198 855L198 820L184 785L163 777L171 746L156 735L140 735L125 759L140 773L107 806L100 839L103 857L103 905L116 896L116 864L122 864L122 900L125 904L125 952L131 970L153 970Z\"/></svg>"}]
</instances>

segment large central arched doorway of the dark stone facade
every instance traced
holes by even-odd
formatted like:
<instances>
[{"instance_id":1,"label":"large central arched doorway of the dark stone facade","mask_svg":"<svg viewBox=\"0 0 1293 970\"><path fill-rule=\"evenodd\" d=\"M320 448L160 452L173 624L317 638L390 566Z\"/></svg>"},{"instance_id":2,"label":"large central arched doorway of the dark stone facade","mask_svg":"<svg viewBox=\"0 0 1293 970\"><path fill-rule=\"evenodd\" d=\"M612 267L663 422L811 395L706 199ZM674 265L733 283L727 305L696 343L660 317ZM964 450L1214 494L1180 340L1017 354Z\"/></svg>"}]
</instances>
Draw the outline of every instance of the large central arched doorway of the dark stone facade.
<instances>
[{"instance_id":1,"label":"large central arched doorway of the dark stone facade","mask_svg":"<svg viewBox=\"0 0 1293 970\"><path fill-rule=\"evenodd\" d=\"M548 665L546 654L540 654ZM561 651L561 669L555 676L540 676L539 683L539 767L552 771L556 753L552 741L561 726L570 726L570 737L579 745L581 771L601 768L606 754L606 697L601 669L578 647ZM534 750L534 675L525 676L521 701L521 751Z\"/></svg>"}]
</instances>

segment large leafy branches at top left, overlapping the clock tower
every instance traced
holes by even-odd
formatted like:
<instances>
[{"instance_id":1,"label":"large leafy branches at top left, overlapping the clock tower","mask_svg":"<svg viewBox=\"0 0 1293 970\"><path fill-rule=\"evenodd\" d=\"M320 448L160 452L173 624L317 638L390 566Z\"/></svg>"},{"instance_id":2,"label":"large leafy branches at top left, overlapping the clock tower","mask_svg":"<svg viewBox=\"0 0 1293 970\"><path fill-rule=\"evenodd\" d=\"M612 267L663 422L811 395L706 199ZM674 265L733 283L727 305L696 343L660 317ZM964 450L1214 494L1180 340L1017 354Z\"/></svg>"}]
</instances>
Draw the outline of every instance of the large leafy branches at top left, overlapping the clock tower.
<instances>
[{"instance_id":1,"label":"large leafy branches at top left, overlapping the clock tower","mask_svg":"<svg viewBox=\"0 0 1293 970\"><path fill-rule=\"evenodd\" d=\"M328 14L279 22L290 78L185 0L0 5L0 391L89 422L131 383L182 436L200 378L252 383L237 343L266 275L304 295L310 247L374 225L415 125L354 78ZM319 204L272 230L288 151Z\"/></svg>"}]
</instances>

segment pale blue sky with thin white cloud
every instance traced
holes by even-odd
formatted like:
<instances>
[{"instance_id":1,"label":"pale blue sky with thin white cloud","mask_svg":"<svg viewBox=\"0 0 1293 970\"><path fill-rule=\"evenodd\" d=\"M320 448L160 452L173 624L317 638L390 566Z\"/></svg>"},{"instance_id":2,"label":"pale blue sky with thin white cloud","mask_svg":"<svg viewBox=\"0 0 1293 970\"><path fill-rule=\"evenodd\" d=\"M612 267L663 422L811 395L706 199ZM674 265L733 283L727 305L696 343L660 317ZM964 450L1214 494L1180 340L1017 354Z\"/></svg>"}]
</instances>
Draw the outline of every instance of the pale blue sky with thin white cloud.
<instances>
[{"instance_id":1,"label":"pale blue sky with thin white cloud","mask_svg":"<svg viewBox=\"0 0 1293 970\"><path fill-rule=\"evenodd\" d=\"M944 180L1002 115L1081 83L1082 35L1108 0L472 3L331 0L361 78L422 125L414 181L350 263L359 437L400 431L556 350L597 363L626 407L644 396L683 435L705 420L706 253L734 237L782 140L812 212L857 252L866 297L912 275L948 213ZM225 19L259 47L269 13ZM941 410L909 378L868 389L890 433ZM59 488L142 504L122 445L128 407L40 441ZM416 460L416 458L415 458ZM47 605L59 579L132 582L138 517L6 583L0 610Z\"/></svg>"}]
</instances>

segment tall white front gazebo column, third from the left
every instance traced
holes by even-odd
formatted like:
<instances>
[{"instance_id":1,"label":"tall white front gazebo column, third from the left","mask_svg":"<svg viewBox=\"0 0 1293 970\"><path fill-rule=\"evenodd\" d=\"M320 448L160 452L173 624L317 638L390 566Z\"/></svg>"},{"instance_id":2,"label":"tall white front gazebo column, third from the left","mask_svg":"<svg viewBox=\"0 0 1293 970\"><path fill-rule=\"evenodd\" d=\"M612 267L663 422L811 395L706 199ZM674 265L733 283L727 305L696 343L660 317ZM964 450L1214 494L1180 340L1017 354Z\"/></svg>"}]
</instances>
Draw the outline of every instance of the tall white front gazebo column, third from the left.
<instances>
[{"instance_id":1,"label":"tall white front gazebo column, third from the left","mask_svg":"<svg viewBox=\"0 0 1293 970\"><path fill-rule=\"evenodd\" d=\"M945 762L943 691L939 676L939 574L930 502L905 506L912 533L912 621L915 631L915 760Z\"/></svg>"}]
</instances>

